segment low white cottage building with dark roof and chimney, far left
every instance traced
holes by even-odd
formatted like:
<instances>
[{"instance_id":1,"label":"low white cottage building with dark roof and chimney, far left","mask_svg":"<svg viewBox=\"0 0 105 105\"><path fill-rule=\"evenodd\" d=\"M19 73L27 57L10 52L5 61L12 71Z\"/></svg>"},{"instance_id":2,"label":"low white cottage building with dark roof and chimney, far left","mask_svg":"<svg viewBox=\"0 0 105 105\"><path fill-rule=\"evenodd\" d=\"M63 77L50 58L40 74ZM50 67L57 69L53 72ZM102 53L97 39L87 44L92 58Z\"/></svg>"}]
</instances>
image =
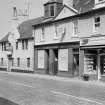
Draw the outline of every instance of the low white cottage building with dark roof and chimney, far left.
<instances>
[{"instance_id":1,"label":"low white cottage building with dark roof and chimney, far left","mask_svg":"<svg viewBox=\"0 0 105 105\"><path fill-rule=\"evenodd\" d=\"M34 72L32 23L37 19L28 20L28 17L28 12L13 6L11 29L0 40L0 70Z\"/></svg>"}]
</instances>

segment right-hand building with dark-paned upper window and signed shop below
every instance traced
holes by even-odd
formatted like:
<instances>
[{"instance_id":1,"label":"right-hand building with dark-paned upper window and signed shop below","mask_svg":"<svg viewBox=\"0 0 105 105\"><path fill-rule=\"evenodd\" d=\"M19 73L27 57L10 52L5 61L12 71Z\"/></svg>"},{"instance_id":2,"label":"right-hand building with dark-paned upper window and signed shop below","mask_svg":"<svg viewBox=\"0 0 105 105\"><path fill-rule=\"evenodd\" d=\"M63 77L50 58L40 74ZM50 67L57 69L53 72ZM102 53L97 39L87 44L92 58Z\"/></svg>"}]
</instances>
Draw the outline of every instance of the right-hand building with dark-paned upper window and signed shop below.
<instances>
[{"instance_id":1,"label":"right-hand building with dark-paned upper window and signed shop below","mask_svg":"<svg viewBox=\"0 0 105 105\"><path fill-rule=\"evenodd\" d=\"M96 0L93 10L79 19L80 74L105 80L105 0Z\"/></svg>"}]
</instances>

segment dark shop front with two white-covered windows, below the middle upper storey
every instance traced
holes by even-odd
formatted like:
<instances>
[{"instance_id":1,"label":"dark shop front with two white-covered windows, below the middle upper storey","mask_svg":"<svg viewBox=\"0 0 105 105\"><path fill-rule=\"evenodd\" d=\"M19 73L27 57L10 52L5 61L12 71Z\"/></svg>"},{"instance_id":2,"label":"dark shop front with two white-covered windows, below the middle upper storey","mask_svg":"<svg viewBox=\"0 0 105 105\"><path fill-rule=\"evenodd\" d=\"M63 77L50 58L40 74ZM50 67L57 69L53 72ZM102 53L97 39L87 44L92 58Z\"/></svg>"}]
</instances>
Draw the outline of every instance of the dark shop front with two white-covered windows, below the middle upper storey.
<instances>
[{"instance_id":1,"label":"dark shop front with two white-covered windows, below the middle upper storey","mask_svg":"<svg viewBox=\"0 0 105 105\"><path fill-rule=\"evenodd\" d=\"M79 77L79 44L57 43L35 46L35 72Z\"/></svg>"}]
</instances>

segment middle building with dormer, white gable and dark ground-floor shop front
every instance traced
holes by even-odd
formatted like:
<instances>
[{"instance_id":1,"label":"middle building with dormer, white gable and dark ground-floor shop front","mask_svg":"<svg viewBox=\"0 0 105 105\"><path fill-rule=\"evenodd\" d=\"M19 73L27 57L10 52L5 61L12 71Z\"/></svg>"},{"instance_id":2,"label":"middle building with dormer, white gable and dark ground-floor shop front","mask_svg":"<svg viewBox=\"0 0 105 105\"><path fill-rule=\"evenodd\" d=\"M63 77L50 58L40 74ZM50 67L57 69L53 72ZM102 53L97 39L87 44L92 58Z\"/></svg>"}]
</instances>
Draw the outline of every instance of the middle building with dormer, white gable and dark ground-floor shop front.
<instances>
[{"instance_id":1,"label":"middle building with dormer, white gable and dark ground-floor shop front","mask_svg":"<svg viewBox=\"0 0 105 105\"><path fill-rule=\"evenodd\" d=\"M78 11L63 5L62 0L49 0L44 10L43 20L33 24L35 72L79 76L78 18L72 17Z\"/></svg>"}]
</instances>

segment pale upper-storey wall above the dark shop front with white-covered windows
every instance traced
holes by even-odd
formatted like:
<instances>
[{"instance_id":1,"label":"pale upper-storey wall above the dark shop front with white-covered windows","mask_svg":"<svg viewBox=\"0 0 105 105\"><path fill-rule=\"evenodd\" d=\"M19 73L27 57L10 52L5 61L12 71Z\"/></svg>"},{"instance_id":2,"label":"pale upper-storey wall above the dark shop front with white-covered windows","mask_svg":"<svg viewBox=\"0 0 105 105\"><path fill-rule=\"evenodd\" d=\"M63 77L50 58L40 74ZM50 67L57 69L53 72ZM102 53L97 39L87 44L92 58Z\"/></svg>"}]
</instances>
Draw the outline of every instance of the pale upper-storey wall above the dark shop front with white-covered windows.
<instances>
[{"instance_id":1,"label":"pale upper-storey wall above the dark shop front with white-covered windows","mask_svg":"<svg viewBox=\"0 0 105 105\"><path fill-rule=\"evenodd\" d=\"M56 36L56 27L57 30L63 27L64 34L60 32L57 33L58 37ZM43 45L43 44L53 44L53 43L62 43L62 42L74 42L78 41L77 37L73 37L73 22L69 21L62 21L50 25L44 26L45 31L45 39L41 39L41 27L35 28L35 45Z\"/></svg>"}]
</instances>

